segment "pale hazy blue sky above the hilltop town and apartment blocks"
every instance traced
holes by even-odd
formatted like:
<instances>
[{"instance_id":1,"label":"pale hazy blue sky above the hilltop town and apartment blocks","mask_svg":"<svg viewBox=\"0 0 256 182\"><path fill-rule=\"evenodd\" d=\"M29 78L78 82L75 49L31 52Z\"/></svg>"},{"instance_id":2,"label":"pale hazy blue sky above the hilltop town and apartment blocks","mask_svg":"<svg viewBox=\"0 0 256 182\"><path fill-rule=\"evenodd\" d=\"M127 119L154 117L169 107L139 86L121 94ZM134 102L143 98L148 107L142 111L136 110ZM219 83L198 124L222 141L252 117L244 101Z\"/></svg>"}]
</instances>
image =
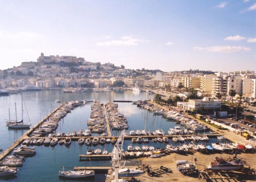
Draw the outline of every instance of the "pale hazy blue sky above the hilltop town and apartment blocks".
<instances>
[{"instance_id":1,"label":"pale hazy blue sky above the hilltop town and apartment blocks","mask_svg":"<svg viewBox=\"0 0 256 182\"><path fill-rule=\"evenodd\" d=\"M0 0L0 69L41 52L134 69L256 70L256 0Z\"/></svg>"}]
</instances>

